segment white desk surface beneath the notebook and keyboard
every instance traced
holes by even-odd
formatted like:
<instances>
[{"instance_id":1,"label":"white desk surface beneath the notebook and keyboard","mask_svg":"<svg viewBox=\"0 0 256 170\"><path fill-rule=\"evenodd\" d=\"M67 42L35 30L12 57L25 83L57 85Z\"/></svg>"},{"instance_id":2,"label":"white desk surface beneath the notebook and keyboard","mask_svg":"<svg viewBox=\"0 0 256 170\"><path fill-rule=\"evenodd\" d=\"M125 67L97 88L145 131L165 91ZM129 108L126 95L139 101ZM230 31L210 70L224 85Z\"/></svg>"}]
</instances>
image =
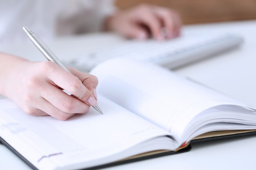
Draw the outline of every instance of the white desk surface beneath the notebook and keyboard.
<instances>
[{"instance_id":1,"label":"white desk surface beneath the notebook and keyboard","mask_svg":"<svg viewBox=\"0 0 256 170\"><path fill-rule=\"evenodd\" d=\"M243 35L245 42L239 49L177 69L175 72L202 82L246 104L256 106L256 20L191 25L184 27L184 30L209 33L211 31L228 31ZM124 41L123 38L105 33L58 38L46 43L59 58L65 58L74 56L74 53L95 51L122 41ZM63 47L68 48L63 50ZM0 51L33 61L44 60L44 57L29 41L22 45L0 47ZM256 136L251 136L195 144L190 152L106 169L255 170L255 153ZM30 170L25 163L0 144L0 170L14 169Z\"/></svg>"}]
</instances>

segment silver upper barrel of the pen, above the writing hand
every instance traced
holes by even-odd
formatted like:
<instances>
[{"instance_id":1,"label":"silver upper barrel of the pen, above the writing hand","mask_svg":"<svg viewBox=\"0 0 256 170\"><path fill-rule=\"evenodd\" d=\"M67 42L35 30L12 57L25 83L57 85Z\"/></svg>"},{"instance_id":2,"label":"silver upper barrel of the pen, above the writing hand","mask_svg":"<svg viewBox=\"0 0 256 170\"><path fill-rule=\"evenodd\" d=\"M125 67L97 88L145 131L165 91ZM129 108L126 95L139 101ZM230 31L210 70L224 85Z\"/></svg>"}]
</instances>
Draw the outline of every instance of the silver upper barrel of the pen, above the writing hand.
<instances>
[{"instance_id":1,"label":"silver upper barrel of the pen, above the writing hand","mask_svg":"<svg viewBox=\"0 0 256 170\"><path fill-rule=\"evenodd\" d=\"M29 39L35 44L35 46L41 51L41 53L51 62L55 62L61 66L65 71L70 72L67 67L56 57L56 55L43 43L35 33L28 34Z\"/></svg>"}]
</instances>

